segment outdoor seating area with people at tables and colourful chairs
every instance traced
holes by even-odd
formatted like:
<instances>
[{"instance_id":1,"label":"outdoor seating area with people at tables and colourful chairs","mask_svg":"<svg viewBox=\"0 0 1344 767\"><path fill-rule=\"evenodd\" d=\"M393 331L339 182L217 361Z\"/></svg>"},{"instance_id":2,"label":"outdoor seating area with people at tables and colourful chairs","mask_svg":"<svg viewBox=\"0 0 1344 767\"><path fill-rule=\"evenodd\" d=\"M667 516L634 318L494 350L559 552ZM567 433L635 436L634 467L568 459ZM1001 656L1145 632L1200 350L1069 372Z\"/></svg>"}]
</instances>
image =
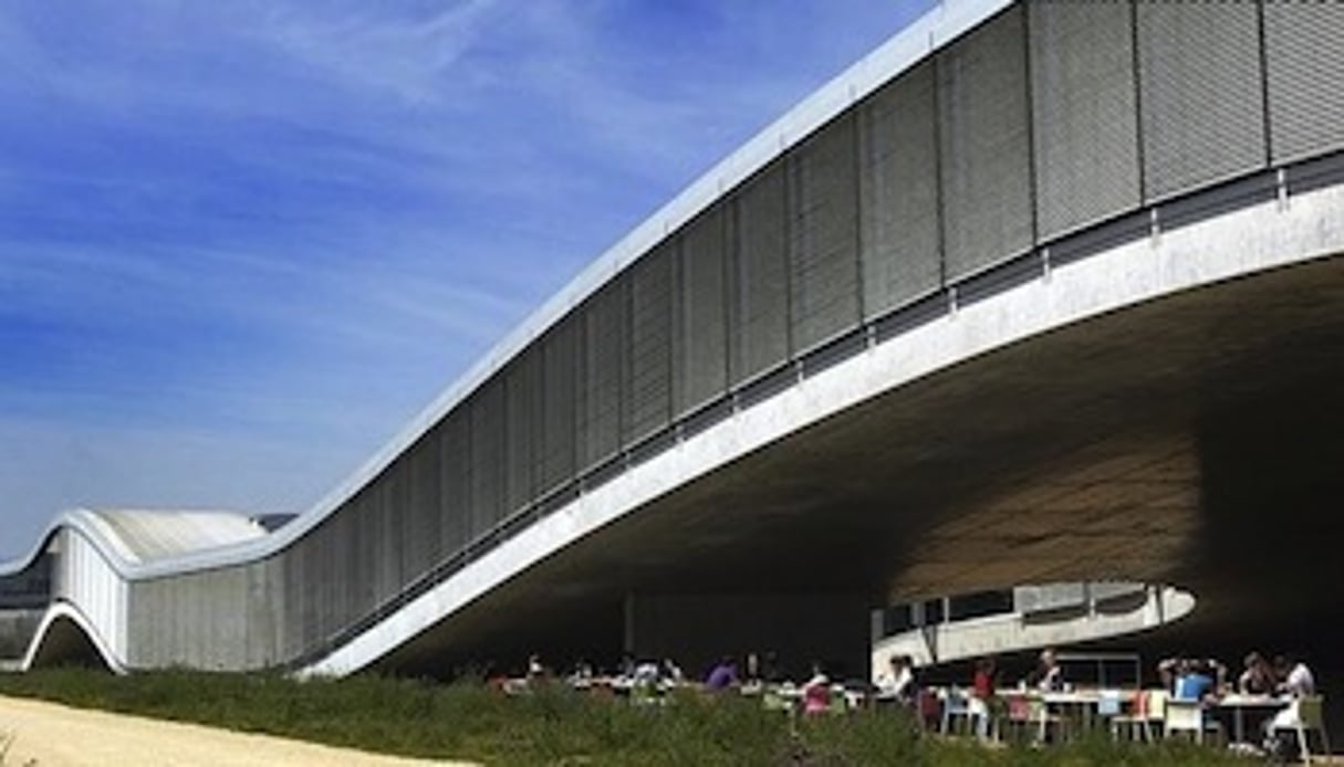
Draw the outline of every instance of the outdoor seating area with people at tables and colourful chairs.
<instances>
[{"instance_id":1,"label":"outdoor seating area with people at tables and colourful chairs","mask_svg":"<svg viewBox=\"0 0 1344 767\"><path fill-rule=\"evenodd\" d=\"M1185 739L1251 756L1310 763L1331 752L1325 698L1305 664L1257 653L1246 670L1230 678L1216 661L1168 658L1153 669L1132 653L1040 653L1021 678L1005 676L993 658L974 664L969 684L948 680L948 669L917 669L909 657L871 682L831 680L813 666L804 682L761 673L749 657L742 672L724 658L700 681L672 661L630 664L614 674L579 669L563 680L534 660L527 677L501 681L507 693L526 693L544 684L628 698L634 705L667 705L687 694L743 696L759 700L797 723L808 716L844 716L859 711L890 715L892 725L914 725L935 737L974 739L988 747L1050 747L1083 737L1156 744ZM1156 673L1154 673L1156 672ZM922 677L930 677L927 681Z\"/></svg>"}]
</instances>

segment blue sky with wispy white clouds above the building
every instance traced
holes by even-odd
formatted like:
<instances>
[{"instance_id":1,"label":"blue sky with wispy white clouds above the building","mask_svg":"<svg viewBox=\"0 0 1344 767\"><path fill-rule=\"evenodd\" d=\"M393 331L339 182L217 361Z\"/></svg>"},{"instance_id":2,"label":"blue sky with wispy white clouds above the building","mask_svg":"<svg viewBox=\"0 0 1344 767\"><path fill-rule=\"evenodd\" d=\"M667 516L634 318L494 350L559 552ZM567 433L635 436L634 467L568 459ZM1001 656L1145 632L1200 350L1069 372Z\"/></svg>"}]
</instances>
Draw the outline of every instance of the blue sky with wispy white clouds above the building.
<instances>
[{"instance_id":1,"label":"blue sky with wispy white clouds above the building","mask_svg":"<svg viewBox=\"0 0 1344 767\"><path fill-rule=\"evenodd\" d=\"M0 559L304 510L933 0L0 4Z\"/></svg>"}]
</instances>

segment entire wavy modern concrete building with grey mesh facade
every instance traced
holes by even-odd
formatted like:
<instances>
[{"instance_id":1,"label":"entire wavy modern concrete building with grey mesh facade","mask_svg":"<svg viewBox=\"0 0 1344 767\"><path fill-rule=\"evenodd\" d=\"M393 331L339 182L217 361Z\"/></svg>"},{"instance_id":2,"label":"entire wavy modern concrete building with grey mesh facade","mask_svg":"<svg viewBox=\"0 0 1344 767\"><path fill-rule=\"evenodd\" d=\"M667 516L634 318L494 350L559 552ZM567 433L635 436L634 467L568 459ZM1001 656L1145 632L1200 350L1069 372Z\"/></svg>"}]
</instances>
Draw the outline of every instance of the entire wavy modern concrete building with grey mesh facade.
<instances>
[{"instance_id":1,"label":"entire wavy modern concrete building with grey mesh facade","mask_svg":"<svg viewBox=\"0 0 1344 767\"><path fill-rule=\"evenodd\" d=\"M0 626L24 666L313 673L866 665L872 610L1060 580L1328 626L1341 43L1331 4L946 0L313 509L66 513Z\"/></svg>"}]
</instances>

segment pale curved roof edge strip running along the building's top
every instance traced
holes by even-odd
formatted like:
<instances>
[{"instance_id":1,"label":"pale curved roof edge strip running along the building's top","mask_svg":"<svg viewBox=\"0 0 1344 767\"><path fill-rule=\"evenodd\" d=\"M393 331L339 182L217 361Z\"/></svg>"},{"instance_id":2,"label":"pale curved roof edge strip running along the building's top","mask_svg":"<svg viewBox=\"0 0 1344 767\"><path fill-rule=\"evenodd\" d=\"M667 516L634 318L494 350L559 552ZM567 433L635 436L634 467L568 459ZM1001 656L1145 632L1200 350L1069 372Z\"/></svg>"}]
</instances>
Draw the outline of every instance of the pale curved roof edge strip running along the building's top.
<instances>
[{"instance_id":1,"label":"pale curved roof edge strip running along the building's top","mask_svg":"<svg viewBox=\"0 0 1344 767\"><path fill-rule=\"evenodd\" d=\"M914 67L1015 1L941 0L935 8L896 32L886 43L804 98L797 106L785 113L784 117L766 126L681 191L669 203L659 208L652 216L617 240L616 244L585 267L569 285L511 330L462 376L449 384L442 394L413 418L378 453L292 523L258 540L168 556L148 563L128 560L118 552L109 556L113 568L126 578L157 578L185 570L211 570L239 564L250 559L259 559L274 553L294 543L353 497L355 493L392 463L398 455L429 431L454 406L466 399L466 396L501 369L520 351L564 317L566 313L578 306L601 286L606 285L641 255L650 251L669 234L718 201L724 192L750 179L754 173L785 154L790 148L853 103L862 101L900 73ZM79 514L89 513L91 512L87 509L77 509L63 512L58 516L39 539L30 557L15 560L16 563L24 563L17 570L26 567L26 563L40 553L46 541L62 524L77 527L98 544L105 553L116 552L114 544L105 535L94 532L91 524L79 518ZM11 572L5 568L12 564L0 563L0 575Z\"/></svg>"}]
</instances>

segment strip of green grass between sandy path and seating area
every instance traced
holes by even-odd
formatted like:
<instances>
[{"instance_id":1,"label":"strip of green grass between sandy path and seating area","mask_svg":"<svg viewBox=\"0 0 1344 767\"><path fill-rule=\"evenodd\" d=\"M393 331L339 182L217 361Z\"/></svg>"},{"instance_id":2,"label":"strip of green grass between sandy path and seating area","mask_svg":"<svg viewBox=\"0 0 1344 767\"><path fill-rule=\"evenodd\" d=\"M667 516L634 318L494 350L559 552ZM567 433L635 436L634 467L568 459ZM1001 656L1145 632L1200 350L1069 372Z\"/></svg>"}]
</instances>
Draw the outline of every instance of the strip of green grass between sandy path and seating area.
<instances>
[{"instance_id":1,"label":"strip of green grass between sandy path and seating area","mask_svg":"<svg viewBox=\"0 0 1344 767\"><path fill-rule=\"evenodd\" d=\"M89 670L0 674L0 694L196 721L332 746L487 764L1245 764L1184 744L1117 746L1099 737L1052 748L982 748L917 732L892 712L805 717L735 696L677 694L667 707L562 688L508 697L480 684L360 676L297 682L277 676Z\"/></svg>"}]
</instances>

